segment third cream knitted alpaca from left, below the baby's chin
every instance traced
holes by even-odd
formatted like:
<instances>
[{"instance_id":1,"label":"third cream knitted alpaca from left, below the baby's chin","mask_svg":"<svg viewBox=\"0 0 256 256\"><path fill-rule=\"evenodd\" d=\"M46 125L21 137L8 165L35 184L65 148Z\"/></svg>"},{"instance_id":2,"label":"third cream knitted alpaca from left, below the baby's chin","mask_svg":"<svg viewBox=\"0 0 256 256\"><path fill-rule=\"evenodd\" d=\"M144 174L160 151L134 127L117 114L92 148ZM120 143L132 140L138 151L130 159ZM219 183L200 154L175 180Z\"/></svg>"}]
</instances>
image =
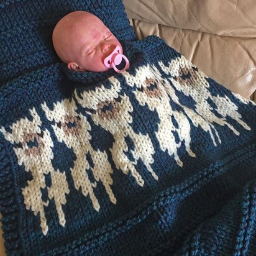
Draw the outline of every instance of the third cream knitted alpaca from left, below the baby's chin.
<instances>
[{"instance_id":1,"label":"third cream knitted alpaca from left, below the baby's chin","mask_svg":"<svg viewBox=\"0 0 256 256\"><path fill-rule=\"evenodd\" d=\"M95 114L89 112L95 124L100 125L104 129L111 132L114 137L114 144L111 150L112 158L117 168L120 168L124 173L130 173L140 186L144 185L144 180L136 170L137 160L141 159L147 170L152 173L152 176L158 180L158 176L153 171L151 164L153 163L153 144L149 135L136 134L130 123L132 116L132 105L129 97L124 94L118 98L118 93L121 90L121 85L116 78L109 78L111 89L106 89L104 86L96 88L95 91L83 91L80 96L75 91L75 96L78 103L82 107L87 107L95 111ZM101 96L99 98L99 96ZM103 107L108 107L112 110L103 111ZM129 150L126 144L126 137L129 136L134 142L135 149ZM129 160L124 152L130 151L134 157L134 161Z\"/></svg>"}]
</instances>

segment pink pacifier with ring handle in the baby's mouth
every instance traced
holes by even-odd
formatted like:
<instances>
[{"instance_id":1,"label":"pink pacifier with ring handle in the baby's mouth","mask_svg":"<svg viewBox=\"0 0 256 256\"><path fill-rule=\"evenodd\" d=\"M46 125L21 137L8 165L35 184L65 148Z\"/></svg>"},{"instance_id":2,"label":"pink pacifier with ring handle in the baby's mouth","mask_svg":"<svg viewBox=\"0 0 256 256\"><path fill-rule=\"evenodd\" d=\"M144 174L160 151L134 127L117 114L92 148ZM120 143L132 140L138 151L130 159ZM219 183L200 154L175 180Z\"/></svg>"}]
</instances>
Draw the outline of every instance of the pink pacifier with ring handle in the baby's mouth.
<instances>
[{"instance_id":1,"label":"pink pacifier with ring handle in the baby's mouth","mask_svg":"<svg viewBox=\"0 0 256 256\"><path fill-rule=\"evenodd\" d=\"M124 69L122 70L118 70L116 68L117 65L119 65L121 62L122 62L122 58L124 58L124 60L126 61L126 66L124 67ZM130 66L130 63L129 63L129 60L126 58L126 56L124 56L122 53L121 53L121 48L117 45L117 47L114 49L114 51L109 55L107 56L105 59L104 59L104 65L107 67L107 68L114 68L114 70L117 72L117 73L120 73L124 70L127 70Z\"/></svg>"}]
</instances>

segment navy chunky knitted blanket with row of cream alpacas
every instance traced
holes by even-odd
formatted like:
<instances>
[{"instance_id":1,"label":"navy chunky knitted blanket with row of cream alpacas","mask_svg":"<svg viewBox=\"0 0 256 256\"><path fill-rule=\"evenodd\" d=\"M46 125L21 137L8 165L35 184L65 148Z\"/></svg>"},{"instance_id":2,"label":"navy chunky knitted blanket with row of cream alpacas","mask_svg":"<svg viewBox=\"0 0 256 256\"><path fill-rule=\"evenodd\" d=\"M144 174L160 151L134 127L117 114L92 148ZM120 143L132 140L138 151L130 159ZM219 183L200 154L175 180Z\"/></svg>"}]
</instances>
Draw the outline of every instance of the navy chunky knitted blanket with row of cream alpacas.
<instances>
[{"instance_id":1,"label":"navy chunky knitted blanket with row of cream alpacas","mask_svg":"<svg viewBox=\"0 0 256 256\"><path fill-rule=\"evenodd\" d=\"M27 17L57 6L51 2L7 1L0 10ZM62 3L58 16L72 8L102 19L111 8L124 12L121 1ZM7 254L255 255L255 104L158 37L136 40L122 17L117 38L130 60L123 73L68 70L45 37L41 49L22 48L35 49L30 56L1 62ZM49 20L52 29L57 18ZM2 41L42 32L42 19L29 25L5 25Z\"/></svg>"}]
</instances>

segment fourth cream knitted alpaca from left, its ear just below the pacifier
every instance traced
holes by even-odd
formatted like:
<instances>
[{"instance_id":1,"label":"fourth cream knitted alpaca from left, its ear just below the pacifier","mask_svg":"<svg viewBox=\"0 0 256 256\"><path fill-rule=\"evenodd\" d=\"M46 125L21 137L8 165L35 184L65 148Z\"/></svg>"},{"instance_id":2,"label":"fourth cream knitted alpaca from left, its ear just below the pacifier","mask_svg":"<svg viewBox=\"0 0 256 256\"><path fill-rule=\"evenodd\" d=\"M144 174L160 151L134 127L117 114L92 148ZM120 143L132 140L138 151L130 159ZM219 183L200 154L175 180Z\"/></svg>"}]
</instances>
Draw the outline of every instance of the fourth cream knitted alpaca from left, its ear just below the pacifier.
<instances>
[{"instance_id":1,"label":"fourth cream knitted alpaca from left, its ear just below the pacifier","mask_svg":"<svg viewBox=\"0 0 256 256\"><path fill-rule=\"evenodd\" d=\"M126 83L131 87L136 87L134 91L137 101L140 105L149 106L151 111L157 111L160 123L158 130L155 132L160 148L167 150L169 155L173 155L176 163L183 166L178 157L177 149L181 142L185 142L186 151L191 157L195 157L190 149L190 123L184 114L178 111L172 111L170 99L165 89L165 80L162 79L159 71L155 66L141 66L136 70L135 76L125 71L122 75L126 78ZM177 98L178 101L178 98ZM168 107L169 106L169 107ZM178 122L179 128L176 129L171 121L171 116ZM180 142L176 144L173 132L177 132Z\"/></svg>"}]
</instances>

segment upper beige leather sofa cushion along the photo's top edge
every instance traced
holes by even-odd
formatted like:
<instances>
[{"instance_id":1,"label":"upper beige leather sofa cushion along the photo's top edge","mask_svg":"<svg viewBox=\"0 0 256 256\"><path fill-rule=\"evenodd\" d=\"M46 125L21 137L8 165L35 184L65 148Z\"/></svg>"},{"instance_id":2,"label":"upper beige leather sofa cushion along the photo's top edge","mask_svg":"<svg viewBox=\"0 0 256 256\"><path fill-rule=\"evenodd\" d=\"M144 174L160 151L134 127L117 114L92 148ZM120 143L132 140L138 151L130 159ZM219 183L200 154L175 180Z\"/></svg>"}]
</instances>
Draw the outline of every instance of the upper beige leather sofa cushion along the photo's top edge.
<instances>
[{"instance_id":1,"label":"upper beige leather sofa cushion along the photo's top edge","mask_svg":"<svg viewBox=\"0 0 256 256\"><path fill-rule=\"evenodd\" d=\"M255 37L254 0L123 0L128 17L179 29Z\"/></svg>"}]
</instances>

